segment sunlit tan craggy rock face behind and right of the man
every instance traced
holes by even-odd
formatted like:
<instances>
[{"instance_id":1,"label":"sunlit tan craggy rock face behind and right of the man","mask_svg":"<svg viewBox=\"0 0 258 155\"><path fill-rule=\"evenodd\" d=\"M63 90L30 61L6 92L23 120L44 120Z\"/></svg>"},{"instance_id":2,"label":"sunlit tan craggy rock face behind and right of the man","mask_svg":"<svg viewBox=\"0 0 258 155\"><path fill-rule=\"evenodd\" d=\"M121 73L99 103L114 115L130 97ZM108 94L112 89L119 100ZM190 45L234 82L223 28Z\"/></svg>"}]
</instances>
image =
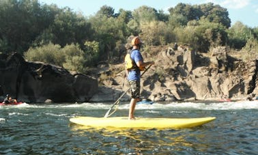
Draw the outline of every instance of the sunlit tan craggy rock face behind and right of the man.
<instances>
[{"instance_id":1,"label":"sunlit tan craggy rock face behind and right of the man","mask_svg":"<svg viewBox=\"0 0 258 155\"><path fill-rule=\"evenodd\" d=\"M214 48L211 53L197 54L183 46L178 46L177 50L166 48L154 55L143 53L145 61L155 60L155 65L141 79L141 95L156 101L218 100L222 96L238 100L250 93L258 95L256 59L248 62L235 59L223 46ZM123 64L120 67L123 68ZM111 81L122 85L121 81L126 81L124 71ZM119 97L117 85L105 85L104 89L105 96ZM120 92L126 89L128 84ZM98 98L102 96L98 94ZM130 92L126 98L130 99Z\"/></svg>"}]
</instances>

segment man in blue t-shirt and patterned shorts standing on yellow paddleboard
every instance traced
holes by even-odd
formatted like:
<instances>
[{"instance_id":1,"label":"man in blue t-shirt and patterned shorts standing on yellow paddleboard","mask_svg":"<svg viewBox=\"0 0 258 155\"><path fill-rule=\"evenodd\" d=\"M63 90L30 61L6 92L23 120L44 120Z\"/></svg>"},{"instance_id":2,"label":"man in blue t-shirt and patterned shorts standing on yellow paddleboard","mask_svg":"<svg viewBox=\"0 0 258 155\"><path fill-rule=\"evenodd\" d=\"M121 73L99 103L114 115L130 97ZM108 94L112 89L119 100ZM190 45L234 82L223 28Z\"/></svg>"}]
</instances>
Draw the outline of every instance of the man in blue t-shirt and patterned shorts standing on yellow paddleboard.
<instances>
[{"instance_id":1,"label":"man in blue t-shirt and patterned shorts standing on yellow paddleboard","mask_svg":"<svg viewBox=\"0 0 258 155\"><path fill-rule=\"evenodd\" d=\"M131 100L130 100L130 109L128 119L135 119L134 117L134 109L137 102L140 100L140 80L141 80L141 71L144 70L145 66L154 65L154 61L143 61L143 57L141 55L141 39L139 36L134 37L132 39L132 50L130 51L130 58L133 61L132 68L126 68L127 79L130 85L131 90Z\"/></svg>"}]
</instances>

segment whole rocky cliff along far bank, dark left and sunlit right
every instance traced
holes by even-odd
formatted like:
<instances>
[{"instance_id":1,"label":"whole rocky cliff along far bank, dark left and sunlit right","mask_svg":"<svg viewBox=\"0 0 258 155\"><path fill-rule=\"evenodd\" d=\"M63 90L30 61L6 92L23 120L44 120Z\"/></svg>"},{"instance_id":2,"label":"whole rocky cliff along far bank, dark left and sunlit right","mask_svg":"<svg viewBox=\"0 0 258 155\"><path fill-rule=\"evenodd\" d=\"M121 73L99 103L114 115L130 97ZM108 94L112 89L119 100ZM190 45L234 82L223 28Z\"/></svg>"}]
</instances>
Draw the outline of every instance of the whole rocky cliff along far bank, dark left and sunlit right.
<instances>
[{"instance_id":1,"label":"whole rocky cliff along far bank, dark left and sunlit right","mask_svg":"<svg viewBox=\"0 0 258 155\"><path fill-rule=\"evenodd\" d=\"M241 100L258 95L258 64L235 57L225 47L195 53L187 47L154 47L142 53L154 60L141 79L141 96L156 101L218 100L227 96ZM100 79L68 70L25 61L21 55L0 55L0 99L6 94L23 102L115 101L128 89L124 64L100 68ZM100 72L100 70L102 70ZM105 77L104 79L102 77ZM100 83L101 81L101 83ZM98 86L101 84L100 86ZM130 92L121 100L130 100Z\"/></svg>"}]
</instances>

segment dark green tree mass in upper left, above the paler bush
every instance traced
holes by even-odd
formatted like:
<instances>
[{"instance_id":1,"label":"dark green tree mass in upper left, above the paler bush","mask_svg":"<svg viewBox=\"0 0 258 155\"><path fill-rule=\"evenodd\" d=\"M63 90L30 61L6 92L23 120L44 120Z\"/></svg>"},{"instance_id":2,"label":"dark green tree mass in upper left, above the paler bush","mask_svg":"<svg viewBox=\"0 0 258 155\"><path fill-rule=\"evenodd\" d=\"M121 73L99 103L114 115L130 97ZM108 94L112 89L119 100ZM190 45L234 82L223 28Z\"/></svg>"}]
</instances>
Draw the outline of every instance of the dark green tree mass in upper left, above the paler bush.
<instances>
[{"instance_id":1,"label":"dark green tree mass in upper left, above the paler bush","mask_svg":"<svg viewBox=\"0 0 258 155\"><path fill-rule=\"evenodd\" d=\"M70 8L40 5L38 0L0 1L0 51L23 53L30 46L53 42L83 46L94 33L85 17Z\"/></svg>"}]
</instances>

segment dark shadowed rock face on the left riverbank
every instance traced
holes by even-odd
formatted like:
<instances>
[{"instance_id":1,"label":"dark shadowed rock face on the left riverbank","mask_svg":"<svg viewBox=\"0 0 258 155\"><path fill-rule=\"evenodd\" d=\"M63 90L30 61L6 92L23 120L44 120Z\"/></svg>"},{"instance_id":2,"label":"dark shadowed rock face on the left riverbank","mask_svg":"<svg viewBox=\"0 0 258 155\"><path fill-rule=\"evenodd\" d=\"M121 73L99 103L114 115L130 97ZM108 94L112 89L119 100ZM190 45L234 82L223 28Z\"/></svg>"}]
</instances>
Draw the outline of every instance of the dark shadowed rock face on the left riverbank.
<instances>
[{"instance_id":1,"label":"dark shadowed rock face on the left riverbank","mask_svg":"<svg viewBox=\"0 0 258 155\"><path fill-rule=\"evenodd\" d=\"M0 55L0 95L23 102L85 102L98 91L98 81L83 74L28 62L21 55Z\"/></svg>"}]
</instances>

